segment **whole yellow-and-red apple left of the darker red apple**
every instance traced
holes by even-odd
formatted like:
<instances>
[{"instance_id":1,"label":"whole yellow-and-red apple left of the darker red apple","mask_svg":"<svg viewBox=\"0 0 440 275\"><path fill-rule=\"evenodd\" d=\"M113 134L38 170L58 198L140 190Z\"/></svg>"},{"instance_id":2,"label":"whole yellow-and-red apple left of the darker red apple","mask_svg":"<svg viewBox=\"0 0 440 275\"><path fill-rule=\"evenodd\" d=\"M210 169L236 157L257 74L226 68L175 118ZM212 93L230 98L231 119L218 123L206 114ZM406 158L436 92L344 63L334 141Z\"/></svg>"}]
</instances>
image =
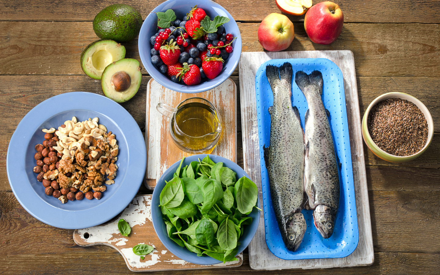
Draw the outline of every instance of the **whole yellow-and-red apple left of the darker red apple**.
<instances>
[{"instance_id":1,"label":"whole yellow-and-red apple left of the darker red apple","mask_svg":"<svg viewBox=\"0 0 440 275\"><path fill-rule=\"evenodd\" d=\"M293 40L293 24L286 15L271 13L258 28L258 41L268 51L282 51Z\"/></svg>"}]
</instances>

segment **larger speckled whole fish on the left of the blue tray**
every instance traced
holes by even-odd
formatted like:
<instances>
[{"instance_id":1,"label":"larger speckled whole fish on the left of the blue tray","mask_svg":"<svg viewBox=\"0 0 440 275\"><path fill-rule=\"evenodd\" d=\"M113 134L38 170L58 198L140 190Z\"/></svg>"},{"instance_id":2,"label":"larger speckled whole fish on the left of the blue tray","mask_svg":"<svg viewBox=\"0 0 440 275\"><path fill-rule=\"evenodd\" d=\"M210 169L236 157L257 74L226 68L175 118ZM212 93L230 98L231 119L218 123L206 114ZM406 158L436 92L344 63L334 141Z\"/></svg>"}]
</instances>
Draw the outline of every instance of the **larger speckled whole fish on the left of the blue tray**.
<instances>
[{"instance_id":1,"label":"larger speckled whole fish on the left of the blue tray","mask_svg":"<svg viewBox=\"0 0 440 275\"><path fill-rule=\"evenodd\" d=\"M269 148L264 148L272 205L286 248L295 251L306 230L304 200L304 132L297 107L292 107L292 65L266 66L274 95Z\"/></svg>"}]
</instances>

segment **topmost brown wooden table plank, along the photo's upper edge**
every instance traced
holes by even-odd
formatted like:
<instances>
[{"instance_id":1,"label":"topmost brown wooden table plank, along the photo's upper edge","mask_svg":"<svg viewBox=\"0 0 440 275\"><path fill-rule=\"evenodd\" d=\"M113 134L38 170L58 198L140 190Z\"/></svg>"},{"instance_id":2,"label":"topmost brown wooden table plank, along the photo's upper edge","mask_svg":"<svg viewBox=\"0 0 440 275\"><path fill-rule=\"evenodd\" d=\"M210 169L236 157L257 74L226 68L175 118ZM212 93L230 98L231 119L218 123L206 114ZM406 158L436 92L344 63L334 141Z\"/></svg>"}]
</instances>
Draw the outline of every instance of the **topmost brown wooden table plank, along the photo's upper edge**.
<instances>
[{"instance_id":1,"label":"topmost brown wooden table plank, along the photo's upper edge","mask_svg":"<svg viewBox=\"0 0 440 275\"><path fill-rule=\"evenodd\" d=\"M161 4L161 0L135 1L126 0L124 4L135 7L142 18L156 6ZM313 4L320 1L314 0ZM2 14L0 20L15 21L17 14L19 20L23 21L92 21L95 15L104 7L120 3L115 0L93 1L77 0L67 1L45 1L33 0L23 4L19 0L9 0L0 3ZM271 12L281 13L274 1L252 1L242 0L240 2L228 0L216 0L216 3L224 7L237 21L261 21ZM421 22L439 23L438 13L440 7L435 1L411 1L400 0L390 2L385 0L370 1L368 5L359 1L339 0L337 4L344 12L345 22ZM247 7L247 8L243 8ZM252 12L249 12L252 9ZM405 12L409 11L411 12ZM304 20L304 15L288 15L292 21Z\"/></svg>"}]
</instances>

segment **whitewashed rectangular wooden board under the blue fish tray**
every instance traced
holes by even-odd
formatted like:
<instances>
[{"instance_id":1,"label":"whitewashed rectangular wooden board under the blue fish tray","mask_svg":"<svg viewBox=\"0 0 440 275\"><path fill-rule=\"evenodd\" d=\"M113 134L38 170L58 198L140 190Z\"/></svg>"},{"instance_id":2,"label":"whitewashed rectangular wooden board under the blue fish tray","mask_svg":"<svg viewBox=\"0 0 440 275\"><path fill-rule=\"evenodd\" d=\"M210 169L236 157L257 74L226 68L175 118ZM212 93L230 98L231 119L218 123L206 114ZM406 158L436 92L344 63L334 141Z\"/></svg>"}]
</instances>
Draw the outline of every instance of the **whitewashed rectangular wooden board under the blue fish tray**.
<instances>
[{"instance_id":1,"label":"whitewashed rectangular wooden board under the blue fish tray","mask_svg":"<svg viewBox=\"0 0 440 275\"><path fill-rule=\"evenodd\" d=\"M356 72L352 51L282 51L245 52L238 64L240 79L240 105L242 113L242 137L244 169L261 190L260 150L258 143L257 102L255 73L270 59L326 58L333 61L344 76L345 103L352 151L353 179L359 225L359 243L355 251L344 258L282 260L273 255L264 235L264 216L261 212L257 233L249 244L249 264L252 269L333 268L370 265L374 262L371 233L370 206L368 203L367 177L363 155ZM260 201L263 201L260 191Z\"/></svg>"}]
</instances>

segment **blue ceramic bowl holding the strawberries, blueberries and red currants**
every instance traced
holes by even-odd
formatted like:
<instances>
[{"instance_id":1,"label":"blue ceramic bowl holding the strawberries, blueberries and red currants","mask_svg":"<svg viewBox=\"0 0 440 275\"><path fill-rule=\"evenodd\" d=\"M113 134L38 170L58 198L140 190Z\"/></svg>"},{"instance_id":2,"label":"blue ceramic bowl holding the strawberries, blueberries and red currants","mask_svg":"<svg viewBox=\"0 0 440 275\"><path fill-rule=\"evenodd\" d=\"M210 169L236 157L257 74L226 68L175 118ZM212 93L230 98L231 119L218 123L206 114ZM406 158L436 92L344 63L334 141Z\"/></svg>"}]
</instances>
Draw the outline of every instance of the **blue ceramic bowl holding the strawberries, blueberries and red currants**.
<instances>
[{"instance_id":1,"label":"blue ceramic bowl holding the strawberries, blueberries and red currants","mask_svg":"<svg viewBox=\"0 0 440 275\"><path fill-rule=\"evenodd\" d=\"M172 9L176 13L177 19L182 20L183 16L191 11L191 8L195 5L202 8L206 12L206 15L211 18L211 20L216 17L216 15L228 17L230 21L223 24L224 29L227 33L232 33L235 37L237 37L237 39L235 39L235 41L232 43L234 51L232 51L232 53L229 55L229 58L226 60L226 62L224 62L223 70L216 78L205 78L202 79L202 81L206 80L205 82L194 86L187 86L180 83L172 82L167 75L162 74L151 63L150 50L153 48L153 45L150 44L150 37L158 32L158 16L155 14L155 12L164 12L168 9ZM151 13L143 22L142 28L140 29L139 33L138 47L142 64L155 81L158 81L162 86L176 92L198 93L208 91L222 84L223 81L225 81L235 70L235 67L237 67L238 61L240 60L240 55L242 53L242 37L234 18L232 18L229 12L227 12L219 4L211 0L168 0L157 6L153 11L151 11Z\"/></svg>"}]
</instances>

